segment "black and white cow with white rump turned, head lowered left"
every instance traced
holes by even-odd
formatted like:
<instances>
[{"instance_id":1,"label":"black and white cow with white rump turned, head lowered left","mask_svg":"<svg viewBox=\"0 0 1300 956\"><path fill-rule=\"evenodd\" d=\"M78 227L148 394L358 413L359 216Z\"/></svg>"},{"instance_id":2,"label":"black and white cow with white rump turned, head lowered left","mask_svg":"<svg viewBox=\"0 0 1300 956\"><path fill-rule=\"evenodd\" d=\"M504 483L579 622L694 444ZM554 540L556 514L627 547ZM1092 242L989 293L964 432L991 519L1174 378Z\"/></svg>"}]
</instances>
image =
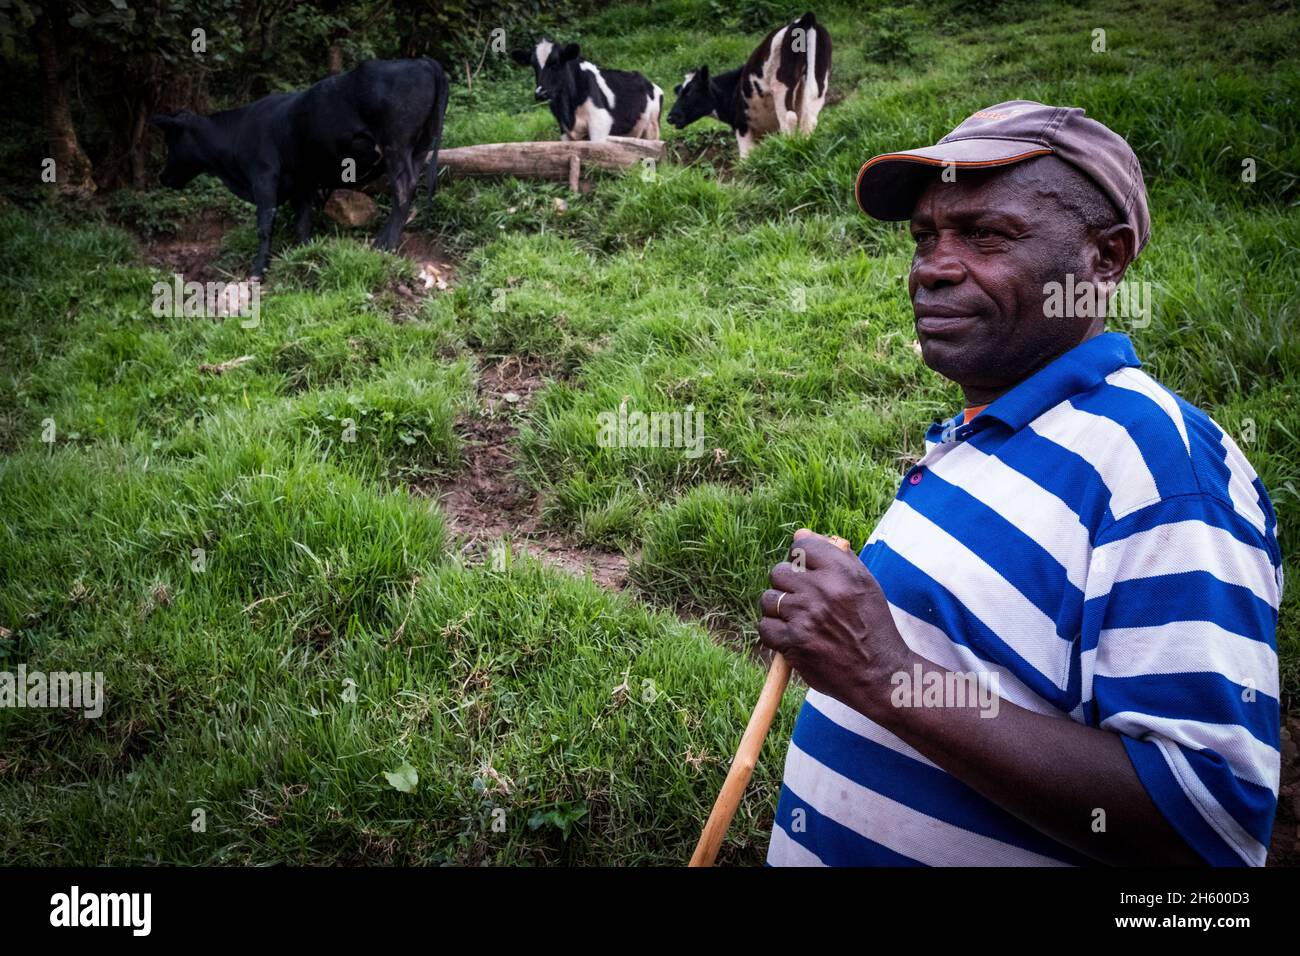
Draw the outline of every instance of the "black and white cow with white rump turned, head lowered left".
<instances>
[{"instance_id":1,"label":"black and white cow with white rump turned, head lowered left","mask_svg":"<svg viewBox=\"0 0 1300 956\"><path fill-rule=\"evenodd\" d=\"M708 75L701 66L677 87L668 122L685 129L703 116L736 130L741 157L770 133L811 133L826 105L831 34L805 13L772 30L740 69Z\"/></svg>"}]
</instances>

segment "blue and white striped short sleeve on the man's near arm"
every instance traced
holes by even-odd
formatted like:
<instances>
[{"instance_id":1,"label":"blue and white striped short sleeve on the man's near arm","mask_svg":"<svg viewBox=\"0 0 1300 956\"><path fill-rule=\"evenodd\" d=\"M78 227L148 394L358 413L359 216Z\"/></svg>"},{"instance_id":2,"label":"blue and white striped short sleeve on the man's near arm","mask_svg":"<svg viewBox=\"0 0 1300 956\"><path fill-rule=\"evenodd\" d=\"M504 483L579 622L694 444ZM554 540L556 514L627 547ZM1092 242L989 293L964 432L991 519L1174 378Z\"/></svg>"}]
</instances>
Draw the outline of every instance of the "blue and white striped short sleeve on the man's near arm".
<instances>
[{"instance_id":1,"label":"blue and white striped short sleeve on the man's near arm","mask_svg":"<svg viewBox=\"0 0 1300 956\"><path fill-rule=\"evenodd\" d=\"M1156 806L1217 866L1262 866L1277 810L1278 555L1270 529L1186 496L1112 524L1088 568L1084 715L1122 735Z\"/></svg>"}]
</instances>

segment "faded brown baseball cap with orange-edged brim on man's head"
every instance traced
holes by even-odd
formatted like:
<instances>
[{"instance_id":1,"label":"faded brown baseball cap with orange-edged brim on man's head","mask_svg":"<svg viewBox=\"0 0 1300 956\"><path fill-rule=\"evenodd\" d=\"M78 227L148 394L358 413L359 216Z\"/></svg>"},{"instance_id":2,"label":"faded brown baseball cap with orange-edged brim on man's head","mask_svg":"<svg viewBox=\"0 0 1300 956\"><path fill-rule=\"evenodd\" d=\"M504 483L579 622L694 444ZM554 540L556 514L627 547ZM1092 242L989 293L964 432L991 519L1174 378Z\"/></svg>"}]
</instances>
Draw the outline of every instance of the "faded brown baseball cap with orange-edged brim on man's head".
<instances>
[{"instance_id":1,"label":"faded brown baseball cap with orange-edged brim on man's head","mask_svg":"<svg viewBox=\"0 0 1300 956\"><path fill-rule=\"evenodd\" d=\"M1035 156L1058 156L1086 173L1136 230L1139 251L1147 245L1150 213L1138 155L1078 107L1009 100L980 109L935 146L871 157L858 170L854 191L868 216L906 220L936 168L1006 166Z\"/></svg>"}]
</instances>

